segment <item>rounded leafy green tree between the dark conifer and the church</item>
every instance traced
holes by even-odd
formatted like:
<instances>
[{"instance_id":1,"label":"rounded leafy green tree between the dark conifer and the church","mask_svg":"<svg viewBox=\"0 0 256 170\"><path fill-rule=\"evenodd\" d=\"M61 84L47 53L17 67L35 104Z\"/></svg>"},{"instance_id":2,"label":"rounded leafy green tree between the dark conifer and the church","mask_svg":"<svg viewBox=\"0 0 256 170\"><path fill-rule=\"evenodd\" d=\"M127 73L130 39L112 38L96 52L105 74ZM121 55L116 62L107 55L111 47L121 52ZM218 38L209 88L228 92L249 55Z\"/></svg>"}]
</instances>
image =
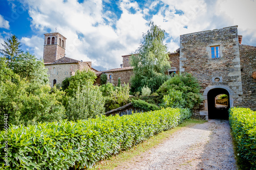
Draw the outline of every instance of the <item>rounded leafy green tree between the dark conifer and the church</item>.
<instances>
[{"instance_id":1,"label":"rounded leafy green tree between the dark conifer and the church","mask_svg":"<svg viewBox=\"0 0 256 170\"><path fill-rule=\"evenodd\" d=\"M48 84L47 68L44 61L38 60L29 52L20 54L12 63L13 72L29 82L37 82L40 84Z\"/></svg>"}]
</instances>

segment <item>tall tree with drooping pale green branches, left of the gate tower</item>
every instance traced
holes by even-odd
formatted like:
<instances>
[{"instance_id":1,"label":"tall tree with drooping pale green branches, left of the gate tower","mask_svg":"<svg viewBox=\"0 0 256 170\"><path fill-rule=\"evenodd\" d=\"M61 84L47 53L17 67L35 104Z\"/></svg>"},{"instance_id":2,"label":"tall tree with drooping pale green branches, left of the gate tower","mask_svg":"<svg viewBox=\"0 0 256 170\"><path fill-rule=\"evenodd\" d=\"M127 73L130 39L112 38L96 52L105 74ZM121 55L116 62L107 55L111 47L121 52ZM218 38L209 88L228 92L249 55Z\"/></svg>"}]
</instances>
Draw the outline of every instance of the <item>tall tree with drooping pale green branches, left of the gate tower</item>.
<instances>
[{"instance_id":1,"label":"tall tree with drooping pale green branches, left of the gate tower","mask_svg":"<svg viewBox=\"0 0 256 170\"><path fill-rule=\"evenodd\" d=\"M150 30L142 35L140 46L131 56L134 76L131 79L131 90L140 91L148 86L152 92L156 91L168 79L165 72L170 67L167 47L163 44L165 31L150 23Z\"/></svg>"}]
</instances>

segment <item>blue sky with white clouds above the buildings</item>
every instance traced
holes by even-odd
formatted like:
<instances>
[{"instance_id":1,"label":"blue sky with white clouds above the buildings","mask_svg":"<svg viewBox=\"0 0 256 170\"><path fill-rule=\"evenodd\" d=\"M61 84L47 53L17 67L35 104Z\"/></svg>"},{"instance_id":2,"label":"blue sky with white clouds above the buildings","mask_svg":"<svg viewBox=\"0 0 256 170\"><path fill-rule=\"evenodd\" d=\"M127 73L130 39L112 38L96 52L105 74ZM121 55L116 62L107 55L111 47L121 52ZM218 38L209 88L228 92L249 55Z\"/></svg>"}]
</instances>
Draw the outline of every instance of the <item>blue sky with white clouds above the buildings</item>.
<instances>
[{"instance_id":1,"label":"blue sky with white clouds above the buildings","mask_svg":"<svg viewBox=\"0 0 256 170\"><path fill-rule=\"evenodd\" d=\"M44 34L57 29L67 38L67 57L102 71L119 68L121 56L138 49L151 21L174 52L182 34L229 26L238 26L242 44L256 46L255 18L256 0L0 0L0 43L14 34L40 59Z\"/></svg>"}]
</instances>

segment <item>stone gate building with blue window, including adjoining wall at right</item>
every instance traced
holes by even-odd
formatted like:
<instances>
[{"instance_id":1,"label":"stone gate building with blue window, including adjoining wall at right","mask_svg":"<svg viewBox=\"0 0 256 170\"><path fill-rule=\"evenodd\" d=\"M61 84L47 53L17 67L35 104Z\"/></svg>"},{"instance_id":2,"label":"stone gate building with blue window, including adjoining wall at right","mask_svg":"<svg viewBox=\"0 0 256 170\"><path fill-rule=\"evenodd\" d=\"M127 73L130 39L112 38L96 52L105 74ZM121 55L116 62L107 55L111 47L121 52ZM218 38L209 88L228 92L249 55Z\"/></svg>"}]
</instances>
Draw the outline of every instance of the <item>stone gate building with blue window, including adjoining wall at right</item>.
<instances>
[{"instance_id":1,"label":"stone gate building with blue window, including adjoining wall at right","mask_svg":"<svg viewBox=\"0 0 256 170\"><path fill-rule=\"evenodd\" d=\"M256 47L241 41L237 26L180 36L180 71L190 72L203 88L203 106L195 116L218 118L222 114L215 107L218 94L228 95L226 109L256 110L256 83L251 77L256 70Z\"/></svg>"}]
</instances>

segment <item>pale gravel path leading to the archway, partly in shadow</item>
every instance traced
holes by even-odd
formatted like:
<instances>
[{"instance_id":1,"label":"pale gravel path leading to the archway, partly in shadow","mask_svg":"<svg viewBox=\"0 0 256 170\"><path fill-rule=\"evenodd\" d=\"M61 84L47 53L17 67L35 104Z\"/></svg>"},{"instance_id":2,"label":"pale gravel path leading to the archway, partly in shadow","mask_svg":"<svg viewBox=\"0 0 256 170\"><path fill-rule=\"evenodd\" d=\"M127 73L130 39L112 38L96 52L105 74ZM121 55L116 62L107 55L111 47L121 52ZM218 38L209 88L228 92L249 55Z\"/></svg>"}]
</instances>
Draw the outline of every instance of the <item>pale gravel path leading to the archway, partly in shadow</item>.
<instances>
[{"instance_id":1,"label":"pale gravel path leading to the archway, partly in shadow","mask_svg":"<svg viewBox=\"0 0 256 170\"><path fill-rule=\"evenodd\" d=\"M115 169L237 169L228 120L183 128Z\"/></svg>"}]
</instances>

